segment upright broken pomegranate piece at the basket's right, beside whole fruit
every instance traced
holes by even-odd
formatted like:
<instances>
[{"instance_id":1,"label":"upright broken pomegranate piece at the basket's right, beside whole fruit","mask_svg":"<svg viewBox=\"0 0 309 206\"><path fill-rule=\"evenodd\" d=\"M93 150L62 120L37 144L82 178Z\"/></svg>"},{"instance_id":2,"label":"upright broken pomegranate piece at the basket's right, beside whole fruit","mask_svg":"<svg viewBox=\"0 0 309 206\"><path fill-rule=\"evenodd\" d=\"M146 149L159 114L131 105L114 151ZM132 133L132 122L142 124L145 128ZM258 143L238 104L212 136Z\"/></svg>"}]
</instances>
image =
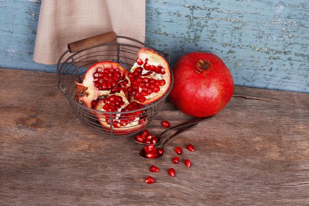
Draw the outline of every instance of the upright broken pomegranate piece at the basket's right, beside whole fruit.
<instances>
[{"instance_id":1,"label":"upright broken pomegranate piece at the basket's right, beside whole fruit","mask_svg":"<svg viewBox=\"0 0 309 206\"><path fill-rule=\"evenodd\" d=\"M143 105L161 98L171 84L168 63L161 55L148 48L140 49L128 77L128 95Z\"/></svg>"}]
</instances>

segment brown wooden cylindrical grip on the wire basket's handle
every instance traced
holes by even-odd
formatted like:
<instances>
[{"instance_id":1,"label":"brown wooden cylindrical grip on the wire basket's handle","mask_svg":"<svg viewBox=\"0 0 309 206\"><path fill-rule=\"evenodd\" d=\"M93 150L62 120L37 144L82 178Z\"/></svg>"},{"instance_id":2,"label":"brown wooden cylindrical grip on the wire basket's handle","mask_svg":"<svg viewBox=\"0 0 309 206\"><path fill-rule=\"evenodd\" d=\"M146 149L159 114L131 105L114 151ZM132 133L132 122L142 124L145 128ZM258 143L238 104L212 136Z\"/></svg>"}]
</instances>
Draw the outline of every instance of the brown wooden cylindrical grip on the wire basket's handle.
<instances>
[{"instance_id":1,"label":"brown wooden cylindrical grip on the wire basket's handle","mask_svg":"<svg viewBox=\"0 0 309 206\"><path fill-rule=\"evenodd\" d=\"M115 32L108 32L108 33L100 34L94 37L89 37L83 40L68 43L68 49L70 53L74 53L77 51L93 48L93 47L96 47L101 44L108 43L114 40L116 40Z\"/></svg>"}]
</instances>

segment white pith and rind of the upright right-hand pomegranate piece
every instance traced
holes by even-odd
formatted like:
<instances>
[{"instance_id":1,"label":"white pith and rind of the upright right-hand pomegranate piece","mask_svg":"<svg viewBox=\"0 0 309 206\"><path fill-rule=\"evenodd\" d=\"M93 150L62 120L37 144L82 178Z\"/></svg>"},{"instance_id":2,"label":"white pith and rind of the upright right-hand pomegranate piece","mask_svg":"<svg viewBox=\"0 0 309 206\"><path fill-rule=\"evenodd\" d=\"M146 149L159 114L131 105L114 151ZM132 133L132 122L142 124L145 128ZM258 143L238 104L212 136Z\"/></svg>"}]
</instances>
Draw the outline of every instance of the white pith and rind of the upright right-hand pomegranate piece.
<instances>
[{"instance_id":1,"label":"white pith and rind of the upright right-hand pomegranate piece","mask_svg":"<svg viewBox=\"0 0 309 206\"><path fill-rule=\"evenodd\" d=\"M147 104L150 100L154 99L158 99L161 96L163 96L169 89L170 83L171 83L171 74L170 74L170 69L168 66L168 63L166 62L166 60L159 54L157 54L156 52L154 52L151 49L147 49L147 48L141 48L140 51L138 52L138 58L141 59L143 61L142 65L138 65L137 62L134 63L134 65L132 66L131 72L133 73L138 67L143 68L142 71L142 75L151 72L151 71L147 71L144 69L144 63L145 63L145 59L148 59L147 63L149 65L154 65L154 66L162 66L164 68L165 74L158 74L155 72L152 72L152 74L147 75L147 76L140 76L141 78L149 78L149 79L154 79L154 80L165 80L165 84L163 86L159 86L160 90L158 92L153 92L147 96L145 96L146 101L145 102L139 102L138 100L135 100L136 102L139 102L141 104ZM142 91L142 88L139 87L139 92Z\"/></svg>"}]
</instances>

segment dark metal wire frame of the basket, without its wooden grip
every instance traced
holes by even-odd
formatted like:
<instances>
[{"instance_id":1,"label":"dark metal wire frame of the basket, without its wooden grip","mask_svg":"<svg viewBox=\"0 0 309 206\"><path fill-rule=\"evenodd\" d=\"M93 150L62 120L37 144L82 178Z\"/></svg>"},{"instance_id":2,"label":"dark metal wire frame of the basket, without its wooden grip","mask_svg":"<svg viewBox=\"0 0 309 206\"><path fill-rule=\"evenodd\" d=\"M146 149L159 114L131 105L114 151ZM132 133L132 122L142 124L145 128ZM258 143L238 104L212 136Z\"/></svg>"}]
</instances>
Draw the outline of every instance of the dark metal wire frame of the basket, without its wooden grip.
<instances>
[{"instance_id":1,"label":"dark metal wire frame of the basket, without its wooden grip","mask_svg":"<svg viewBox=\"0 0 309 206\"><path fill-rule=\"evenodd\" d=\"M145 44L141 41L137 41L135 39L129 38L129 37L124 37L124 36L116 36L116 39L127 39L129 41L134 41L137 42L139 44L141 44L141 46L137 46L137 45L132 45L129 43L105 43L105 44L101 44L98 46L94 46L92 48L104 48L106 46L113 46L113 48L115 47L115 49L109 49L109 50L98 50L98 51L94 51L94 52L90 52L90 53L85 53L83 54L84 51L88 51L89 49L84 49L84 50L80 50L77 51L75 53L72 53L72 55L70 55L67 59L65 59L63 61L64 56L70 52L70 50L68 49L67 51L65 51L61 57L59 58L59 61L57 63L57 84L58 87L61 89L61 91L63 92L63 94L67 97L73 111L76 113L77 117L81 120L82 124L86 125L87 127L89 127L90 129L92 129L94 132L101 134L104 137L111 137L111 138L117 138L117 137L127 137L127 136L132 136L136 133L138 133L142 128L144 128L147 124L151 123L154 118L156 117L156 115L158 114L160 108L162 107L162 105L164 104L164 101L166 99L166 97L168 96L168 94L170 93L174 80L173 80L173 73L171 71L171 84L169 87L169 90L158 100L154 101L153 103L150 103L148 105L144 105L143 108L137 109L137 110L132 110L132 111L128 111L128 112L103 112L103 111L98 111L98 110L94 110L91 108L86 107L83 103L79 103L75 100L75 94L76 94L76 84L75 81L77 82L82 82L82 76L85 73L86 69L84 68L85 66L90 66L98 61L112 61L112 59L108 60L108 59L102 59L104 56L113 56L115 57L115 59L113 59L114 61L116 60L116 62L118 63L122 63L125 64L127 66L132 66L131 64L128 63L123 63L121 59L126 59L129 61L134 62L136 59L130 59L130 58L126 58L124 56L120 55L120 52L128 52L131 54L136 54L137 56L137 52L135 49L140 49L141 47L147 47L147 48L151 48L153 49L155 52L157 52L158 54L160 54L161 56L163 56L166 61L169 63L170 57L167 53L164 53L148 44ZM92 49L91 48L91 49ZM121 50L122 49L122 50ZM92 55L92 54L96 54L99 52L116 52L116 55L112 55L112 54L101 54L101 55ZM83 54L83 55L79 55L76 57L77 54ZM91 55L91 56L89 56ZM83 58L84 57L84 58ZM77 63L82 62L82 60L87 60L89 58L92 57L98 57L97 60L93 60L93 62L87 63L85 65L82 66L77 66ZM79 59L79 58L83 58L83 59ZM78 59L78 61L76 61ZM63 62L63 63L61 63ZM70 66L69 66L70 65ZM68 67L69 66L69 67ZM79 71L79 70L84 70ZM68 74L70 73L71 74ZM75 74L74 74L75 73ZM71 79L71 82L70 82ZM66 80L66 81L65 81ZM69 82L68 82L69 81ZM129 113L133 113L133 112L140 112L143 111L142 115L140 115L140 117L146 117L142 120L147 120L146 124L143 123L140 126L138 126L138 128L135 128L134 126L128 126L128 130L125 131L118 131L116 129L114 129L113 125L110 124L109 128L108 127L103 127L101 124L99 124L98 119L97 118L106 118L106 116L109 116L109 121L113 122L114 118L113 117L117 117L122 115L122 117L127 118L127 119L132 119L131 116L125 116L125 114L129 114ZM125 119L123 119L125 120ZM104 121L101 121L104 122ZM134 121L133 121L134 122ZM130 130L132 129L132 130Z\"/></svg>"}]
</instances>

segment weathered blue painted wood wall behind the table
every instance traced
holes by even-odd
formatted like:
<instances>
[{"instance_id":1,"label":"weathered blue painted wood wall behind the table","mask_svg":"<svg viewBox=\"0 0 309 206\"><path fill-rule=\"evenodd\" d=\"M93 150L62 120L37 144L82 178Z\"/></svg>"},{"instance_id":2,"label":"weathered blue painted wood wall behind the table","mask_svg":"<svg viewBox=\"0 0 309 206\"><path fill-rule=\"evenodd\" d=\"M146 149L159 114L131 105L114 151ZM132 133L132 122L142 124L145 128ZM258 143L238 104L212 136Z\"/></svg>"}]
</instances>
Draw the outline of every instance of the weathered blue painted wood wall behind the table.
<instances>
[{"instance_id":1,"label":"weathered blue painted wood wall behind the table","mask_svg":"<svg viewBox=\"0 0 309 206\"><path fill-rule=\"evenodd\" d=\"M146 43L171 55L220 56L236 85L309 92L307 0L146 0ZM0 67L33 62L40 0L0 0Z\"/></svg>"}]
</instances>

